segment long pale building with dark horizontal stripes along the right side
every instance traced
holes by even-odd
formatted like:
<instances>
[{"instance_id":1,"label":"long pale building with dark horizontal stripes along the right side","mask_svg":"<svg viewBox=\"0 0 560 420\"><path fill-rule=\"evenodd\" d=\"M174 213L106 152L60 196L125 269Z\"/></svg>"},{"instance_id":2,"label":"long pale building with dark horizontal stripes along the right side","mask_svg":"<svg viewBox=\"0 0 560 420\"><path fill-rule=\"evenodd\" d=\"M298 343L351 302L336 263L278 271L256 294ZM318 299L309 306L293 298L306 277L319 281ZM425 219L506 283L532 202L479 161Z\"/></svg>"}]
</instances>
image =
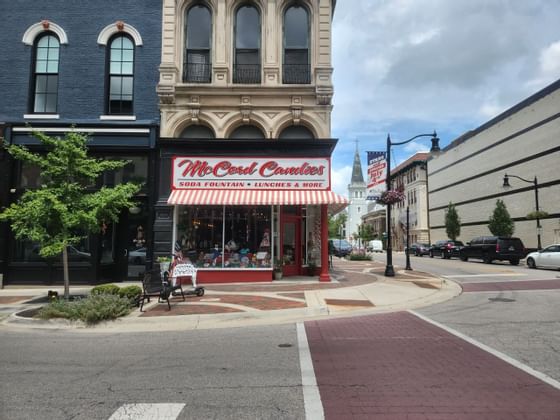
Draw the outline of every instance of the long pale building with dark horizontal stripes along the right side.
<instances>
[{"instance_id":1,"label":"long pale building with dark horizontal stripes along the right side","mask_svg":"<svg viewBox=\"0 0 560 420\"><path fill-rule=\"evenodd\" d=\"M490 235L488 219L503 200L515 221L514 235L537 247L535 211L538 180L542 245L560 242L560 80L482 126L469 131L430 160L429 203L432 241L445 239L445 209L455 204L461 218L458 239ZM505 174L511 188L503 188Z\"/></svg>"}]
</instances>

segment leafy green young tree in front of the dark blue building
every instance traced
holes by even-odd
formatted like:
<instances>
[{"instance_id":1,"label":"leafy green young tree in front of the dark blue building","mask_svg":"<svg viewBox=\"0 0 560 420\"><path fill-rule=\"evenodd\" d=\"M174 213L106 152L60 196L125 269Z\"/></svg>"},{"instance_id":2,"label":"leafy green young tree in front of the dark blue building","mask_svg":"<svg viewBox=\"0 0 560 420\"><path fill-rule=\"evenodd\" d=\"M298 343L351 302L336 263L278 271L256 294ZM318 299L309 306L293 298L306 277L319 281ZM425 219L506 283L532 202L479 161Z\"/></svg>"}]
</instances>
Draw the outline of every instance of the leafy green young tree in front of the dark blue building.
<instances>
[{"instance_id":1,"label":"leafy green young tree in front of the dark blue building","mask_svg":"<svg viewBox=\"0 0 560 420\"><path fill-rule=\"evenodd\" d=\"M62 254L64 297L68 299L68 246L99 232L104 221L117 221L123 208L134 205L132 197L141 186L126 183L92 191L103 172L122 168L128 161L88 157L87 137L77 132L69 132L64 138L41 132L33 135L46 153L33 153L17 145L4 147L15 159L38 167L43 185L27 190L0 213L0 221L10 223L17 239L38 243L42 257Z\"/></svg>"}]
</instances>

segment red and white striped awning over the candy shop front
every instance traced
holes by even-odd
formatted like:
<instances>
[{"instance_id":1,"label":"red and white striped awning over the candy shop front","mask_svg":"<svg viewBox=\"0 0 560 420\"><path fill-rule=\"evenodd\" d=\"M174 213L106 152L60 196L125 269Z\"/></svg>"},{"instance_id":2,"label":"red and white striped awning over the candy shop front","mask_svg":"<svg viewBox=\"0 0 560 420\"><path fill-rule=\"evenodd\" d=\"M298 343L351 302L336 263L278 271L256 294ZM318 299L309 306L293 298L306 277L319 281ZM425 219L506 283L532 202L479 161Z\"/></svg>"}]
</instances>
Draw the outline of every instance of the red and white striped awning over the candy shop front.
<instances>
[{"instance_id":1,"label":"red and white striped awning over the candy shop front","mask_svg":"<svg viewBox=\"0 0 560 420\"><path fill-rule=\"evenodd\" d=\"M302 205L328 204L336 214L348 205L348 199L332 191L306 190L173 190L167 199L171 205Z\"/></svg>"}]
</instances>

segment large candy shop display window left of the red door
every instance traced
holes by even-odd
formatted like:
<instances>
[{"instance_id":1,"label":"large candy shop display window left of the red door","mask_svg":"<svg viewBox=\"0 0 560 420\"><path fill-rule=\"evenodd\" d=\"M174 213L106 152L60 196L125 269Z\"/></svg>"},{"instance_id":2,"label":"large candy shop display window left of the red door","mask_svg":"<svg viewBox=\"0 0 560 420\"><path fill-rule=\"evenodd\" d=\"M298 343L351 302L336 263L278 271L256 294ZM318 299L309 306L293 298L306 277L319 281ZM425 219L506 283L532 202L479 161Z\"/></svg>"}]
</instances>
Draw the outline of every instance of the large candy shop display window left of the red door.
<instances>
[{"instance_id":1,"label":"large candy shop display window left of the red door","mask_svg":"<svg viewBox=\"0 0 560 420\"><path fill-rule=\"evenodd\" d=\"M178 207L177 243L202 268L270 268L271 207Z\"/></svg>"}]
</instances>

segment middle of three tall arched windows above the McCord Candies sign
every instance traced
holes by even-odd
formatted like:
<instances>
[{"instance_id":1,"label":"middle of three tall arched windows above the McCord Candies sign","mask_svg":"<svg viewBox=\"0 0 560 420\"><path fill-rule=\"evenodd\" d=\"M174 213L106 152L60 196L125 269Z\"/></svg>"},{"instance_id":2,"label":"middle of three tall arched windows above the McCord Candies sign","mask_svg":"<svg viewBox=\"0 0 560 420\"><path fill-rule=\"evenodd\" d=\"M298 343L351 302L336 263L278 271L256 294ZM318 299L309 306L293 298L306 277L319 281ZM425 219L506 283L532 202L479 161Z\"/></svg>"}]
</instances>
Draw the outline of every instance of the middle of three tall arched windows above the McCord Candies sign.
<instances>
[{"instance_id":1,"label":"middle of three tall arched windows above the McCord Candies sign","mask_svg":"<svg viewBox=\"0 0 560 420\"><path fill-rule=\"evenodd\" d=\"M233 83L261 82L261 24L256 7L244 5L235 15Z\"/></svg>"}]
</instances>

